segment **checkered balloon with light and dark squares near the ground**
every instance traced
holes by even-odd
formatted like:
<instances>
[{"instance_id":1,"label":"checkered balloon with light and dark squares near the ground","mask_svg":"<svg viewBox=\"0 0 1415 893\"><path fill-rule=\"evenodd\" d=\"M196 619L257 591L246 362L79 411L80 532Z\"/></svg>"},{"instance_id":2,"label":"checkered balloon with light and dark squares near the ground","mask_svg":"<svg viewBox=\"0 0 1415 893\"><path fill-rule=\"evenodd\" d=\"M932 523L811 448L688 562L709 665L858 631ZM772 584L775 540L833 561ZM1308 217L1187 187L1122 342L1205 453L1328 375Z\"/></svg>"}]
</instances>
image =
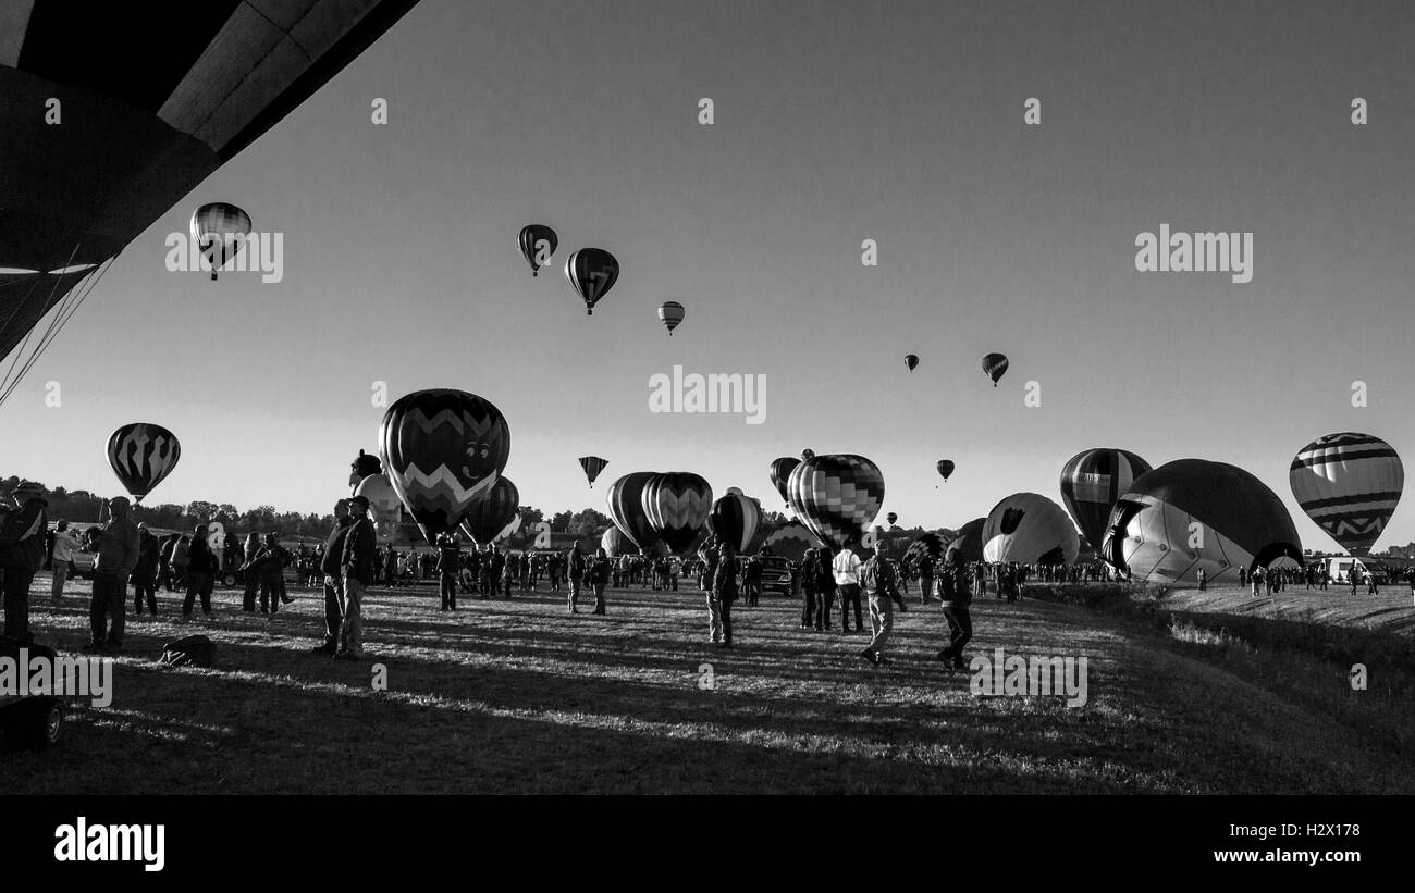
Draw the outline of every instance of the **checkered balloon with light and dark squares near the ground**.
<instances>
[{"instance_id":1,"label":"checkered balloon with light and dark squares near the ground","mask_svg":"<svg viewBox=\"0 0 1415 893\"><path fill-rule=\"evenodd\" d=\"M812 456L787 480L791 510L826 545L846 548L865 537L884 503L884 475L856 455Z\"/></svg>"}]
</instances>

